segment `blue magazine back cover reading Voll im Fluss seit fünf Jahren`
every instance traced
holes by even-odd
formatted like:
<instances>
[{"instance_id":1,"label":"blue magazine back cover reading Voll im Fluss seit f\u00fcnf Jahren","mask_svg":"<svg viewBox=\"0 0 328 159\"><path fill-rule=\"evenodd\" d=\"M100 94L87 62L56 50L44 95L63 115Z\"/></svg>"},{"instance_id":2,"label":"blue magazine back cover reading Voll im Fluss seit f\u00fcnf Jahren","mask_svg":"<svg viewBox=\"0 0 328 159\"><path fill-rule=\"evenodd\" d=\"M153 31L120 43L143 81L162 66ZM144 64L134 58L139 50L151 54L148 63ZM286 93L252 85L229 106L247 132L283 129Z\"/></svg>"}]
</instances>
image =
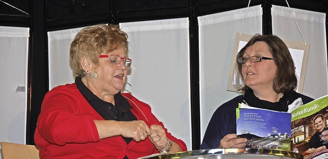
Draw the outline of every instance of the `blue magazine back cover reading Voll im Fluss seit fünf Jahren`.
<instances>
[{"instance_id":1,"label":"blue magazine back cover reading Voll im Fluss seit f\u00fcnf Jahren","mask_svg":"<svg viewBox=\"0 0 328 159\"><path fill-rule=\"evenodd\" d=\"M240 106L239 106L240 107ZM237 137L248 148L291 149L291 113L258 108L237 108Z\"/></svg>"}]
</instances>

